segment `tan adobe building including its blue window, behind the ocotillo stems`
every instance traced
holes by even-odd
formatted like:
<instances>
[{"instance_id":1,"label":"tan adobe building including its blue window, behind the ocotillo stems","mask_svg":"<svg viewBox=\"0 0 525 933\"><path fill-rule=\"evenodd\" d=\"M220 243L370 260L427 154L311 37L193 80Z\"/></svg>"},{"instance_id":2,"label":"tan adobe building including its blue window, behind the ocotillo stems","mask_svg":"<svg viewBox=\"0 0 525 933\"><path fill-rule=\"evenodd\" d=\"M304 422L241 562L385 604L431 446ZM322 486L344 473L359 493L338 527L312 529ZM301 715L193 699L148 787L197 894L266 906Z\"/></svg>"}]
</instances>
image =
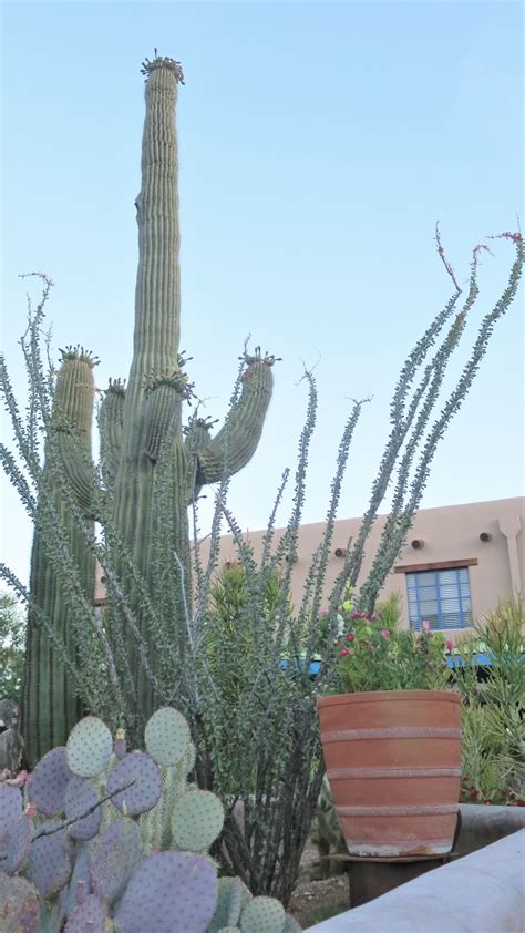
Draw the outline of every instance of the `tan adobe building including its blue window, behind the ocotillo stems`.
<instances>
[{"instance_id":1,"label":"tan adobe building including its blue window, behind the ocotillo stems","mask_svg":"<svg viewBox=\"0 0 525 933\"><path fill-rule=\"evenodd\" d=\"M465 505L421 509L414 519L405 546L389 574L380 598L397 591L403 605L403 623L418 629L426 619L431 627L452 638L493 609L500 597L523 593L525 499L498 499ZM364 581L378 547L385 516L378 516L369 540L359 583ZM336 522L326 594L341 568L344 548L356 539L361 519ZM301 601L311 555L321 541L325 523L299 530L297 561L292 570L292 596ZM280 530L282 533L282 529ZM260 556L264 531L247 539ZM279 540L276 531L276 542ZM205 550L204 544L203 550ZM222 563L235 562L230 535L220 544Z\"/></svg>"}]
</instances>

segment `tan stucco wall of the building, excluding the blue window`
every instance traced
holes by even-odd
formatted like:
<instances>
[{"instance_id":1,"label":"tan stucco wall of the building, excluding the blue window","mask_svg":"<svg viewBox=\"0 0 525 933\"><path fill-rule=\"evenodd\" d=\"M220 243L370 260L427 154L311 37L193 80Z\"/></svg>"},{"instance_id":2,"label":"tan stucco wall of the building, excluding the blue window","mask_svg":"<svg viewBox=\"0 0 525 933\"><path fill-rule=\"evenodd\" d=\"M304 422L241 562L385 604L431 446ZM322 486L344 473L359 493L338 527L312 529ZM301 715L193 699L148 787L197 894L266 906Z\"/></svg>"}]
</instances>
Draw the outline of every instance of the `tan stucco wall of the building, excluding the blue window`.
<instances>
[{"instance_id":1,"label":"tan stucco wall of the building, excluding the blue window","mask_svg":"<svg viewBox=\"0 0 525 933\"><path fill-rule=\"evenodd\" d=\"M494 608L500 596L523 592L525 586L523 529L525 526L525 499L500 499L491 502L475 502L466 505L445 505L441 509L422 509L418 512L409 541L389 574L382 596L398 591L403 599L404 619L408 621L406 583L404 573L395 573L395 567L421 566L446 561L474 560L477 564L469 567L472 608L474 617ZM369 537L366 558L359 582L364 580L375 553L384 516L378 519ZM340 567L341 558L336 548L344 548L348 540L359 531L360 519L337 522L327 574L329 592ZM509 535L509 540L503 531ZM323 523L302 525L299 533L298 560L294 566L292 594L296 604L300 602L310 558L319 544ZM491 540L480 540L480 534L487 532ZM264 532L250 532L248 539L256 555L260 554ZM276 532L276 541L280 537ZM414 550L413 540L424 541L424 546ZM513 543L514 542L514 543ZM509 550L511 548L511 550ZM513 551L514 548L514 551ZM206 543L203 545L206 553ZM512 554L514 553L514 565ZM229 535L222 541L220 558L223 562L235 561L235 547ZM514 580L512 578L514 577ZM451 633L452 637L454 633Z\"/></svg>"}]
</instances>

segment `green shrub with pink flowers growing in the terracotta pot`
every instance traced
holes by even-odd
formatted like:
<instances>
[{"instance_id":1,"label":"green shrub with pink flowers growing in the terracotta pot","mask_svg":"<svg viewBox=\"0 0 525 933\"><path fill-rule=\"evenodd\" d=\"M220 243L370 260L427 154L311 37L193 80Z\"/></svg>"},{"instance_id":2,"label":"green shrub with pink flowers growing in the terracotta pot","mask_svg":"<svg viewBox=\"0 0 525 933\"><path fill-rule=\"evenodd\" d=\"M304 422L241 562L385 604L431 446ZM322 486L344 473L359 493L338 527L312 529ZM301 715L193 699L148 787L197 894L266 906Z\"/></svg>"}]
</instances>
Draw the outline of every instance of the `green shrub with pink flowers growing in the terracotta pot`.
<instances>
[{"instance_id":1,"label":"green shrub with pink flowers growing in the terracotta pot","mask_svg":"<svg viewBox=\"0 0 525 933\"><path fill-rule=\"evenodd\" d=\"M450 679L441 633L423 622L418 634L385 627L378 615L352 612L343 604L343 634L336 642L336 688L338 693L369 690L440 690Z\"/></svg>"}]
</instances>

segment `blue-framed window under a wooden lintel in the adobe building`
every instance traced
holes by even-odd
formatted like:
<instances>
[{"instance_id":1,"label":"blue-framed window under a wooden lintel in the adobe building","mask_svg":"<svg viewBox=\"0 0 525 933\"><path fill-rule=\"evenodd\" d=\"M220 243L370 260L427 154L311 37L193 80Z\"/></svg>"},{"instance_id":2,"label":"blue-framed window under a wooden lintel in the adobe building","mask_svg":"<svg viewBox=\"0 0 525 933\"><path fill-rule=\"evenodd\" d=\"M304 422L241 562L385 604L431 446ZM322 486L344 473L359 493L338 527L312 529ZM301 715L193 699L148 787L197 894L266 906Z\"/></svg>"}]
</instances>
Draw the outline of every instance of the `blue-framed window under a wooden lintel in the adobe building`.
<instances>
[{"instance_id":1,"label":"blue-framed window under a wooden lintel in the adobe building","mask_svg":"<svg viewBox=\"0 0 525 933\"><path fill-rule=\"evenodd\" d=\"M410 625L416 632L425 621L431 629L467 628L472 625L467 567L408 573L406 589Z\"/></svg>"}]
</instances>

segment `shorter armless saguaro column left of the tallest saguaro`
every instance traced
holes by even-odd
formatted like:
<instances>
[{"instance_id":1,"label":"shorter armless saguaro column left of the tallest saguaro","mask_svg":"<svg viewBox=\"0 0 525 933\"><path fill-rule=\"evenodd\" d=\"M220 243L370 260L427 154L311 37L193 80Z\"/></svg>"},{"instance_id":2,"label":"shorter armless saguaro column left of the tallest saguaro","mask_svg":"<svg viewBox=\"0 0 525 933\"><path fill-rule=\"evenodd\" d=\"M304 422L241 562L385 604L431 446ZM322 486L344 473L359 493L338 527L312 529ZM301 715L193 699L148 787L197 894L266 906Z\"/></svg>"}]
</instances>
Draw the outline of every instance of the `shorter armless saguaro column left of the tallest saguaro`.
<instances>
[{"instance_id":1,"label":"shorter armless saguaro column left of the tallest saguaro","mask_svg":"<svg viewBox=\"0 0 525 933\"><path fill-rule=\"evenodd\" d=\"M68 464L68 474L79 503L83 504L84 512L89 512L87 470L81 448L84 448L84 457L89 457L94 397L93 365L91 355L83 350L68 348L63 351L47 444L43 492L39 503L39 512L45 512L48 526L53 521L54 510L56 520L66 531L80 585L86 598L93 594L94 560L64 502L56 473L56 458ZM74 662L79 642L58 568L50 561L43 539L44 534L37 521L30 591L42 615L39 617L34 611L29 612L22 707L22 731L31 763L54 745L62 745L82 715L81 700L59 650L59 646L63 645ZM51 630L43 623L42 616Z\"/></svg>"}]
</instances>

